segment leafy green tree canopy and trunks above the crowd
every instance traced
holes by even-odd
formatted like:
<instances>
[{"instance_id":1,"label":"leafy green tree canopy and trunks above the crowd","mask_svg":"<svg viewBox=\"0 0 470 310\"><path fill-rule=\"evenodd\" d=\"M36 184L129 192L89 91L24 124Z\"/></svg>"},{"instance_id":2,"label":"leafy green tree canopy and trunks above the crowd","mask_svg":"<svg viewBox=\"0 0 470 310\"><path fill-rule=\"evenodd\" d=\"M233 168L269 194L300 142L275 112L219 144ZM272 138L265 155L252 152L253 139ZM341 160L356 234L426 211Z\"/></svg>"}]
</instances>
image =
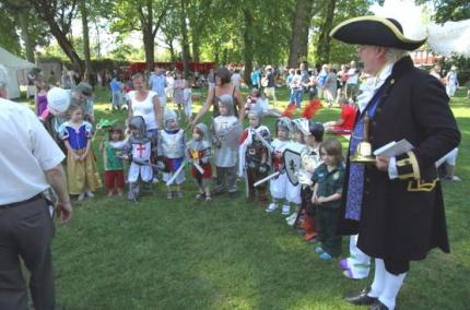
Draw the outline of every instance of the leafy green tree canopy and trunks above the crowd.
<instances>
[{"instance_id":1,"label":"leafy green tree canopy and trunks above the crowd","mask_svg":"<svg viewBox=\"0 0 470 310\"><path fill-rule=\"evenodd\" d=\"M54 37L45 53L62 53L81 72L99 58L141 60L149 69L162 60L244 63L248 71L268 63L344 63L356 57L354 48L332 41L329 32L345 19L368 14L375 2L381 1L3 0L0 45L27 55ZM468 1L416 2L434 4L438 22L470 17ZM128 40L136 33L141 46ZM109 36L113 44L104 49Z\"/></svg>"}]
</instances>

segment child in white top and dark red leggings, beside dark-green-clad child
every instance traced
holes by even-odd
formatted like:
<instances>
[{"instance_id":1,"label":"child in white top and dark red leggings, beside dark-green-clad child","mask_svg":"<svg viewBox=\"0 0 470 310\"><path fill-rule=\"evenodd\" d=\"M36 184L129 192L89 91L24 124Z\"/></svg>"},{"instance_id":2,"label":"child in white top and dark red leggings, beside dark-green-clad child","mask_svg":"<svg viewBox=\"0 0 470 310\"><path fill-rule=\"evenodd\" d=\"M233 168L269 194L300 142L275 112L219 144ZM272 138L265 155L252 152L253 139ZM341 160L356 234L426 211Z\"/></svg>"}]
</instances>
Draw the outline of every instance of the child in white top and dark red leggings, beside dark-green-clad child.
<instances>
[{"instance_id":1,"label":"child in white top and dark red leggings, beside dark-green-clad child","mask_svg":"<svg viewBox=\"0 0 470 310\"><path fill-rule=\"evenodd\" d=\"M302 207L304 212L304 220L302 222L302 228L304 229L304 240L309 241L317 236L315 226L315 207L312 204L312 177L316 168L322 163L320 157L320 144L324 140L324 126L320 122L312 120L299 120L297 121L298 129L305 136L306 147L301 153L301 168L298 169L298 182L301 184L301 199ZM297 217L297 212L292 215L287 224L294 225ZM298 214L299 215L299 214Z\"/></svg>"}]
</instances>

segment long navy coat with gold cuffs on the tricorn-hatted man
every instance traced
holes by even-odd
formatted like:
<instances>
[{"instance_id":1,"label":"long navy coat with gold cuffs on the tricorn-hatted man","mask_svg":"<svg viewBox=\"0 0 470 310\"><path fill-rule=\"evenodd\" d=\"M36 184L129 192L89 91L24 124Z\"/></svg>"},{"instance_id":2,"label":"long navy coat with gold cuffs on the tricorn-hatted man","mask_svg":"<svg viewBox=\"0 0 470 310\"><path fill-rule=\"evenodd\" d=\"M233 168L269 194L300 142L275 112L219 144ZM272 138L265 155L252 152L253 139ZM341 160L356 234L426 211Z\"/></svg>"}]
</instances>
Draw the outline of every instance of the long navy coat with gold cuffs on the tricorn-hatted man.
<instances>
[{"instance_id":1,"label":"long navy coat with gold cuffs on the tricorn-hatted man","mask_svg":"<svg viewBox=\"0 0 470 310\"><path fill-rule=\"evenodd\" d=\"M348 156L339 230L342 235L359 234L357 247L373 258L422 260L436 247L449 252L443 194L434 166L460 142L449 98L440 82L414 68L410 57L393 65L384 87L371 120L373 150L407 139L415 147L410 156L416 165L409 165L411 174L393 180L375 166L367 166L361 220L356 222L344 218Z\"/></svg>"}]
</instances>

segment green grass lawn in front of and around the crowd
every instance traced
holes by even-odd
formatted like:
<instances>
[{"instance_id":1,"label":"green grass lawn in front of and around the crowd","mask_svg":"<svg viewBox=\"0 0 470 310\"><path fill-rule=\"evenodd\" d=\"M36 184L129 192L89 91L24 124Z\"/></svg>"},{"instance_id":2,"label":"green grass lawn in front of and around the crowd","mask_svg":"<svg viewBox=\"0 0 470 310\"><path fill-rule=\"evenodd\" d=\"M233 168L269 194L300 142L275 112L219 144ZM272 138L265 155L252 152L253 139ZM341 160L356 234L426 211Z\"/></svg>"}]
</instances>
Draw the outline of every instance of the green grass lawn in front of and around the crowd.
<instances>
[{"instance_id":1,"label":"green grass lawn in front of and around the crowd","mask_svg":"<svg viewBox=\"0 0 470 310\"><path fill-rule=\"evenodd\" d=\"M444 182L451 254L435 250L412 263L400 309L470 309L470 100L458 95L451 106L462 132L456 175L463 181ZM285 106L286 91L278 96ZM98 93L97 119L124 119L106 110L108 100ZM338 116L339 108L322 109L316 119ZM273 129L274 119L266 123ZM66 309L361 309L342 295L369 285L372 276L346 279L338 260L319 260L280 213L246 204L243 183L238 198L204 203L192 199L187 176L181 200L166 200L158 183L138 204L102 190L75 205L54 242L57 296ZM343 255L348 245L344 238Z\"/></svg>"}]
</instances>

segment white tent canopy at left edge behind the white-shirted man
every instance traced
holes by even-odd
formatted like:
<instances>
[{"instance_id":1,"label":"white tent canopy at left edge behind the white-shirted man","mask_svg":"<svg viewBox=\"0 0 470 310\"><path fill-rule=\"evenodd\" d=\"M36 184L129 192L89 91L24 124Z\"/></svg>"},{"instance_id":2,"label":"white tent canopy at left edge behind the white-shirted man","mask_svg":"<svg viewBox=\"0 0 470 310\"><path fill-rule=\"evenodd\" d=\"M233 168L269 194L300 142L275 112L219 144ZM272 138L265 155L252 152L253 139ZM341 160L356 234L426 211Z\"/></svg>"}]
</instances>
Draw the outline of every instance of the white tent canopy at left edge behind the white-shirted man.
<instances>
[{"instance_id":1,"label":"white tent canopy at left edge behind the white-shirted man","mask_svg":"<svg viewBox=\"0 0 470 310\"><path fill-rule=\"evenodd\" d=\"M0 64L4 65L8 71L8 86L7 86L7 95L8 98L17 98L20 97L20 85L17 82L17 74L20 70L28 70L35 68L34 63L21 59L13 53L9 52L4 48L0 47Z\"/></svg>"}]
</instances>

